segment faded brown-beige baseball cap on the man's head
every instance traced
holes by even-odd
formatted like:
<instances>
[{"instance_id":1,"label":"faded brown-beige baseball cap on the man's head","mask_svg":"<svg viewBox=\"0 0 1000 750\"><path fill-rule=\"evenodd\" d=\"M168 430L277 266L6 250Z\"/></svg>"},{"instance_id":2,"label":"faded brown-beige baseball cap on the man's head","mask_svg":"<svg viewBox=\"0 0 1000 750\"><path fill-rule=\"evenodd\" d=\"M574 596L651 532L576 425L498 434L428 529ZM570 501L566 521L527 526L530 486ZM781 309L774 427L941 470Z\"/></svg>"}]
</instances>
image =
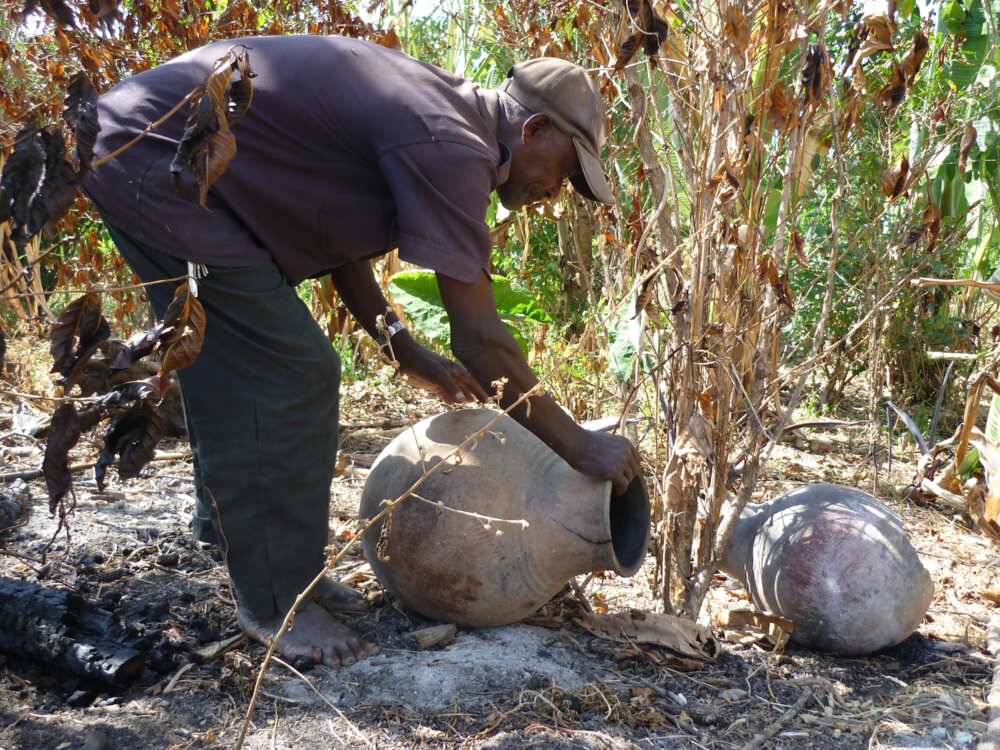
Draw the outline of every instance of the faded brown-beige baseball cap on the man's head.
<instances>
[{"instance_id":1,"label":"faded brown-beige baseball cap on the man's head","mask_svg":"<svg viewBox=\"0 0 1000 750\"><path fill-rule=\"evenodd\" d=\"M573 139L581 171L569 179L585 198L614 203L601 166L604 106L590 76L579 65L557 57L518 63L500 90L532 112L548 116Z\"/></svg>"}]
</instances>

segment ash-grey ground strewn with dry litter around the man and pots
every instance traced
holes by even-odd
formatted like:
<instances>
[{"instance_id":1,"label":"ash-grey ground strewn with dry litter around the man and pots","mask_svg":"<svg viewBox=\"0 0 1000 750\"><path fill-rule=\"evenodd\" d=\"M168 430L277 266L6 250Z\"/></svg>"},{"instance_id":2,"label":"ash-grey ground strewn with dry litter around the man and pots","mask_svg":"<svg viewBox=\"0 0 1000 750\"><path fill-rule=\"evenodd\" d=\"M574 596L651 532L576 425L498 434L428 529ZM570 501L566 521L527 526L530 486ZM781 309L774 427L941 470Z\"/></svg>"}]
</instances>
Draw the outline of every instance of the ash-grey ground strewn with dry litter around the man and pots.
<instances>
[{"instance_id":1,"label":"ash-grey ground strewn with dry litter around the man and pots","mask_svg":"<svg viewBox=\"0 0 1000 750\"><path fill-rule=\"evenodd\" d=\"M385 385L373 391L353 384L343 398L342 448L357 464L403 426L440 408ZM0 472L41 465L42 445L14 434L12 425L15 408L23 419L30 416L26 408L44 406L0 398ZM780 446L758 499L818 480L870 490L873 464L864 435L805 433L808 439ZM93 460L95 440L81 442L74 460ZM185 445L160 450L183 455ZM794 648L775 653L760 633L720 628L718 657L704 669L682 672L652 651L591 636L576 624L582 605L569 592L527 623L460 631L450 645L418 651L408 633L431 623L392 606L354 550L338 573L368 597L369 614L353 625L381 654L339 671L296 674L273 664L246 746L973 747L986 726L992 676L984 641L993 605L981 593L1000 583L1000 558L953 513L901 499L896 488L912 478L914 458L896 456L891 475L883 470L878 477L878 494L903 515L937 593L920 631L886 653L865 659ZM364 483L363 471L342 468L332 493L331 552L358 526ZM22 525L0 542L0 575L69 587L113 611L152 648L142 676L111 691L15 655L2 657L0 748L233 747L263 649L234 639L220 555L189 535L190 471L183 459L156 461L138 480L123 484L113 477L103 494L88 472L77 474L70 539L57 539L44 567L37 558L55 520L43 484L27 483L33 499ZM591 581L586 596L613 611L655 608L651 564L630 580ZM720 576L706 621L746 606L739 587Z\"/></svg>"}]
</instances>

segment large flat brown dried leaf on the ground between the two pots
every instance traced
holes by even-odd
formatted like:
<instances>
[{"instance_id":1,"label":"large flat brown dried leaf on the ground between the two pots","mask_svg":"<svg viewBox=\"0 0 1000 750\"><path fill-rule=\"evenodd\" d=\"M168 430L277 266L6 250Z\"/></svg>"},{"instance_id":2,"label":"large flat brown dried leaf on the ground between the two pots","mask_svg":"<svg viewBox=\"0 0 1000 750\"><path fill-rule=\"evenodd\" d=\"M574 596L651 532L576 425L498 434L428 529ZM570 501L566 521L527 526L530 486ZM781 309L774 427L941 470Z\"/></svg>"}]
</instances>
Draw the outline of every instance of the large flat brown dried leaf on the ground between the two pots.
<instances>
[{"instance_id":1,"label":"large flat brown dried leaf on the ground between the two pots","mask_svg":"<svg viewBox=\"0 0 1000 750\"><path fill-rule=\"evenodd\" d=\"M719 653L719 642L711 630L673 615L636 609L605 615L585 612L577 622L598 638L660 646L678 656L702 662L714 659Z\"/></svg>"}]
</instances>

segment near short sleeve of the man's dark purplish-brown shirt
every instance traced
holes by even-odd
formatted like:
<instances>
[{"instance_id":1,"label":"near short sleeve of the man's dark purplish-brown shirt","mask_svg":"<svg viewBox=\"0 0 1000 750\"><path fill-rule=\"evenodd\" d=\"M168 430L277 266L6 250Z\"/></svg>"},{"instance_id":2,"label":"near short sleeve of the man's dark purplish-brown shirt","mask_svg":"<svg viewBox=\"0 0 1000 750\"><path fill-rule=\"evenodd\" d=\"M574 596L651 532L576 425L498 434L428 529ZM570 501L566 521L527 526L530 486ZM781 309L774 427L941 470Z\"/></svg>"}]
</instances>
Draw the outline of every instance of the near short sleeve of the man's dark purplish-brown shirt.
<instances>
[{"instance_id":1,"label":"near short sleeve of the man's dark purplish-brown shirt","mask_svg":"<svg viewBox=\"0 0 1000 750\"><path fill-rule=\"evenodd\" d=\"M477 149L434 141L379 159L399 223L399 257L458 281L489 273L486 209L496 165Z\"/></svg>"}]
</instances>

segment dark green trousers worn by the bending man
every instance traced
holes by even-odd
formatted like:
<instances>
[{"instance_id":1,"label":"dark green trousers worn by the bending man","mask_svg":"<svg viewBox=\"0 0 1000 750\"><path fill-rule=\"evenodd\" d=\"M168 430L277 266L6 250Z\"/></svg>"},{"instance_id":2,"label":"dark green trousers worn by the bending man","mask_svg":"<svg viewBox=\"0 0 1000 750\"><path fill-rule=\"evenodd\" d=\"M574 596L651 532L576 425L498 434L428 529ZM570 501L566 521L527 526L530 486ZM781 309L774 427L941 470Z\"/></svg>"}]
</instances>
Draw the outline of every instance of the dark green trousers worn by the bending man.
<instances>
[{"instance_id":1,"label":"dark green trousers worn by the bending man","mask_svg":"<svg viewBox=\"0 0 1000 750\"><path fill-rule=\"evenodd\" d=\"M185 261L108 230L144 282L187 272ZM146 287L158 317L175 288ZM209 266L198 291L205 343L178 372L195 535L216 532L240 606L257 617L284 614L324 564L340 360L273 263Z\"/></svg>"}]
</instances>

